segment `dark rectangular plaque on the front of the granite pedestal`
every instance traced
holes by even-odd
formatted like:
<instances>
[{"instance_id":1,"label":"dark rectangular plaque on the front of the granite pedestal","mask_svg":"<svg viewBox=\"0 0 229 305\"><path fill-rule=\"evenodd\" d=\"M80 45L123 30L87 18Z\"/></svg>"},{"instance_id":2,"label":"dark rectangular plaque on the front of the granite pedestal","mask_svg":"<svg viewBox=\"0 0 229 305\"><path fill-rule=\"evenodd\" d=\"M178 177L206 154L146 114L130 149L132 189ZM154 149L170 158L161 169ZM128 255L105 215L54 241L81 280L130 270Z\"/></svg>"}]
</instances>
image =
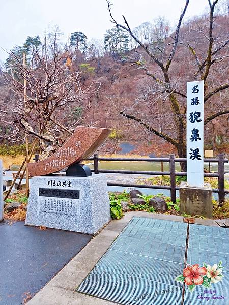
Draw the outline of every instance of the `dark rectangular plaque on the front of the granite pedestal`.
<instances>
[{"instance_id":1,"label":"dark rectangular plaque on the front of the granite pedestal","mask_svg":"<svg viewBox=\"0 0 229 305\"><path fill-rule=\"evenodd\" d=\"M79 199L79 190L39 188L39 196Z\"/></svg>"}]
</instances>

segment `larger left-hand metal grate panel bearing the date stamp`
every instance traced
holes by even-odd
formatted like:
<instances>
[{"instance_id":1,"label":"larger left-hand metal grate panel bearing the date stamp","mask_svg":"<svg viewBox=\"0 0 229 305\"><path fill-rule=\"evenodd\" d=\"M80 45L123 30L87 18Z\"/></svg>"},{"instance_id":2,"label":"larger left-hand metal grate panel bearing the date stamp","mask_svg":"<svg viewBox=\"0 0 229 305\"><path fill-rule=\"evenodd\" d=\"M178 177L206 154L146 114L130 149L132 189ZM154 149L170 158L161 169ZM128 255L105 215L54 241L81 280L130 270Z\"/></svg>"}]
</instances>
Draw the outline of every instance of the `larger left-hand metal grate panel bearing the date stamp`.
<instances>
[{"instance_id":1,"label":"larger left-hand metal grate panel bearing the date stamp","mask_svg":"<svg viewBox=\"0 0 229 305\"><path fill-rule=\"evenodd\" d=\"M134 217L76 289L120 304L179 305L187 223ZM182 263L181 263L182 262Z\"/></svg>"}]
</instances>

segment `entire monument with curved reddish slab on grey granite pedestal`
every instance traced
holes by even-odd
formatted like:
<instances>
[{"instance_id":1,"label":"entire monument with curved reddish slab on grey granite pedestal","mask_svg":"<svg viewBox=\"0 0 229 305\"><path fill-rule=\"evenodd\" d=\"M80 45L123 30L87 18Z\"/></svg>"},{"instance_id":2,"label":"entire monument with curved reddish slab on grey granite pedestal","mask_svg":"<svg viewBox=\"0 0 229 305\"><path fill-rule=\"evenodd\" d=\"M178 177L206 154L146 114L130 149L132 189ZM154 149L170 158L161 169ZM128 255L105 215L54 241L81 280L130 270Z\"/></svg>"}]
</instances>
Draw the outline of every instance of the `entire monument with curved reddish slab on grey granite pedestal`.
<instances>
[{"instance_id":1,"label":"entire monument with curved reddish slab on grey granite pedestal","mask_svg":"<svg viewBox=\"0 0 229 305\"><path fill-rule=\"evenodd\" d=\"M110 221L104 174L79 164L106 140L109 129L77 127L47 159L28 163L30 197L25 225L96 234ZM68 167L65 173L56 173Z\"/></svg>"}]
</instances>

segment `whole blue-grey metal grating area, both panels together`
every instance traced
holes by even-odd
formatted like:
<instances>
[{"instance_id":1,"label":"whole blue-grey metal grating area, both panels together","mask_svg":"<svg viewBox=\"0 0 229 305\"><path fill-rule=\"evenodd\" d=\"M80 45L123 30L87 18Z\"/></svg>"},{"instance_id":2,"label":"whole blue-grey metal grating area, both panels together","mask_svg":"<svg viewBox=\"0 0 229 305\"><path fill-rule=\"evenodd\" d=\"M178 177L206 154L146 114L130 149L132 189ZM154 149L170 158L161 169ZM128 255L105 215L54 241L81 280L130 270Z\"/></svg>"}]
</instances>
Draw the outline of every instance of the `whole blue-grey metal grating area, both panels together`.
<instances>
[{"instance_id":1,"label":"whole blue-grey metal grating area, both panels together","mask_svg":"<svg viewBox=\"0 0 229 305\"><path fill-rule=\"evenodd\" d=\"M228 242L226 228L133 217L76 291L124 305L226 305L227 272L214 284L225 299L196 299L204 295L203 286L193 293L185 289L182 298L183 286L174 279L182 273L186 255L188 264L222 260L229 270Z\"/></svg>"}]
</instances>

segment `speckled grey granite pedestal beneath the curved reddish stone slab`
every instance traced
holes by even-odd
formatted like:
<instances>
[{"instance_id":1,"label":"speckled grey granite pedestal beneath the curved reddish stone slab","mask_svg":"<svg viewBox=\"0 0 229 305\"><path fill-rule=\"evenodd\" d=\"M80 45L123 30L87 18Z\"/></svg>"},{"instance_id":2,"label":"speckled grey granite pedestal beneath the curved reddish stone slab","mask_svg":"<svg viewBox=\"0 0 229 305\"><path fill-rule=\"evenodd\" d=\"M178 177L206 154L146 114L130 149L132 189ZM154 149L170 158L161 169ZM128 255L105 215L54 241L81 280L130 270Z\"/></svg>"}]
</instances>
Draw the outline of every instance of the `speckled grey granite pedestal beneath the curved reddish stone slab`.
<instances>
[{"instance_id":1,"label":"speckled grey granite pedestal beneath the curved reddish stone slab","mask_svg":"<svg viewBox=\"0 0 229 305\"><path fill-rule=\"evenodd\" d=\"M30 179L25 225L96 234L109 221L110 203L104 174Z\"/></svg>"}]
</instances>

